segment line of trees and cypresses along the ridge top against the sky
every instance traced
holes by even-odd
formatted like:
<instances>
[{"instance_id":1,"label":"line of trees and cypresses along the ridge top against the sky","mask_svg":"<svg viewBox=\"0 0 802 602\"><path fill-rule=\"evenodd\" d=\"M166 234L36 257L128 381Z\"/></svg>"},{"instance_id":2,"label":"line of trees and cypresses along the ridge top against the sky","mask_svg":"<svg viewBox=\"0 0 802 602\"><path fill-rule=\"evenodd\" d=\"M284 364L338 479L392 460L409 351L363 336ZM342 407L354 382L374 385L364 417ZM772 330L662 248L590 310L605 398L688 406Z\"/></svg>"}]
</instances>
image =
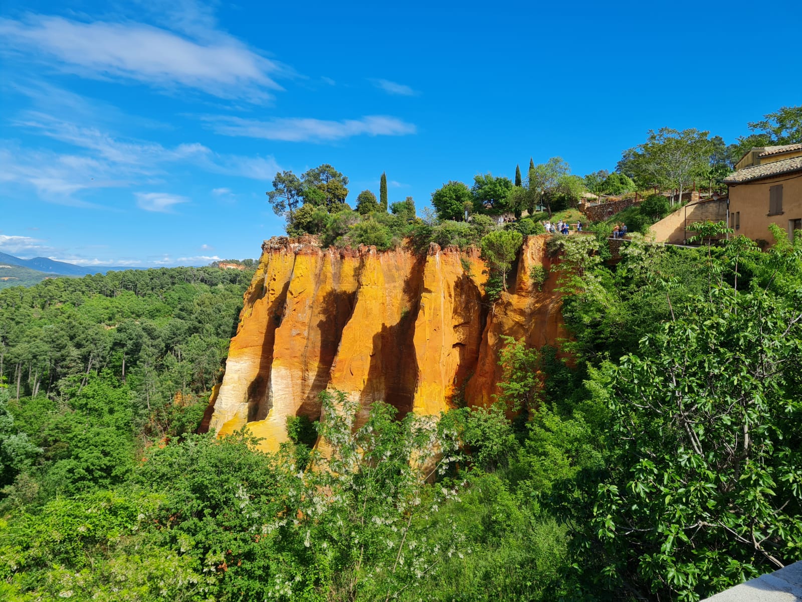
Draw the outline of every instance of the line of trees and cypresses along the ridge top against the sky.
<instances>
[{"instance_id":1,"label":"line of trees and cypresses along the ridge top against the sky","mask_svg":"<svg viewBox=\"0 0 802 602\"><path fill-rule=\"evenodd\" d=\"M719 185L735 163L755 146L802 141L800 123L802 105L782 107L763 120L749 122L751 133L739 136L731 144L696 128L658 128L650 130L642 144L623 151L613 171L600 169L585 176L571 173L570 165L561 157L541 164L535 164L530 157L525 177L520 165L516 165L514 181L484 173L477 174L470 186L454 180L444 183L431 193L434 214L424 209L423 218L429 222L459 222L476 214L514 214L520 218L524 212L531 215L537 209L550 216L575 205L585 193L617 196L658 189L670 190L682 198L683 191L694 183L699 188ZM323 164L300 177L291 171L277 173L267 195L273 211L286 218L290 235L319 234L333 216L347 212L356 214L350 216L353 222L387 214L388 210L403 218L415 218L415 201L411 197L388 205L386 173L380 177L379 199L371 190L363 190L356 197L354 211L346 202L347 185L348 177L332 165Z\"/></svg>"}]
</instances>

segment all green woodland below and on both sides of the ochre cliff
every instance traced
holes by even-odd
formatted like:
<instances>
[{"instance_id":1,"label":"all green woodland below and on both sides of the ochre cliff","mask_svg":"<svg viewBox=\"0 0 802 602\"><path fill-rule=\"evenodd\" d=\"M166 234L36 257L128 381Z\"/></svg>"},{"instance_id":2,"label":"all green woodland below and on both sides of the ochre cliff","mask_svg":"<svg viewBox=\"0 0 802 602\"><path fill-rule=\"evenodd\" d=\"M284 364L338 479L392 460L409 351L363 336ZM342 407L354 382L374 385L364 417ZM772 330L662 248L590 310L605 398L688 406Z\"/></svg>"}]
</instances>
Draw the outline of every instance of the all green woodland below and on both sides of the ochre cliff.
<instances>
[{"instance_id":1,"label":"all green woodland below and on both sides of the ochre cliff","mask_svg":"<svg viewBox=\"0 0 802 602\"><path fill-rule=\"evenodd\" d=\"M0 291L2 598L699 600L802 559L802 238L722 233L554 236L570 360L509 339L439 420L326 392L276 454L198 433L253 271Z\"/></svg>"}]
</instances>

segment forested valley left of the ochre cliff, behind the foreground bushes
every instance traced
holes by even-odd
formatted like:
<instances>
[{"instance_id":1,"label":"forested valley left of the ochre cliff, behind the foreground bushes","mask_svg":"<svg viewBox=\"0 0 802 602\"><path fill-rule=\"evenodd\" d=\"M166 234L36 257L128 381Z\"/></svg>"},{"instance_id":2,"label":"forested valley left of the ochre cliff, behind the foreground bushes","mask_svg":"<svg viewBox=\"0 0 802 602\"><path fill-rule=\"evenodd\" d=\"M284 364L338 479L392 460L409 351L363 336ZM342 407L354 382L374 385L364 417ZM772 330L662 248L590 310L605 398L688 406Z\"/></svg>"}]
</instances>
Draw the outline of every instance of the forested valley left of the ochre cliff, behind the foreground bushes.
<instances>
[{"instance_id":1,"label":"forested valley left of the ochre cliff, behind the foreground bushes","mask_svg":"<svg viewBox=\"0 0 802 602\"><path fill-rule=\"evenodd\" d=\"M132 270L0 292L3 495L113 486L147 441L195 429L252 274Z\"/></svg>"}]
</instances>

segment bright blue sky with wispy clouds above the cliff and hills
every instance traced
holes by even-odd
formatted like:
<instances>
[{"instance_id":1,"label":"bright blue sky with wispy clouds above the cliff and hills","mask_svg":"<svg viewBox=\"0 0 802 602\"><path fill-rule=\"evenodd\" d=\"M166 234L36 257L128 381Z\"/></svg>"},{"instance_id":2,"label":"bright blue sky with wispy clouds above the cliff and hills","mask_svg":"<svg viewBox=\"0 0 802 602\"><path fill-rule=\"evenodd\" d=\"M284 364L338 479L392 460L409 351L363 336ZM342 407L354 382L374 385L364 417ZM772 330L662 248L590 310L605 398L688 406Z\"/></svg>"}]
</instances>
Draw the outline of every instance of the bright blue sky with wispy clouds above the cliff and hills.
<instances>
[{"instance_id":1,"label":"bright blue sky with wispy clouds above the cliff and hills","mask_svg":"<svg viewBox=\"0 0 802 602\"><path fill-rule=\"evenodd\" d=\"M3 0L0 250L255 258L283 234L277 169L331 163L350 201L386 171L421 207L529 157L584 175L650 128L731 142L802 103L800 2L340 4Z\"/></svg>"}]
</instances>

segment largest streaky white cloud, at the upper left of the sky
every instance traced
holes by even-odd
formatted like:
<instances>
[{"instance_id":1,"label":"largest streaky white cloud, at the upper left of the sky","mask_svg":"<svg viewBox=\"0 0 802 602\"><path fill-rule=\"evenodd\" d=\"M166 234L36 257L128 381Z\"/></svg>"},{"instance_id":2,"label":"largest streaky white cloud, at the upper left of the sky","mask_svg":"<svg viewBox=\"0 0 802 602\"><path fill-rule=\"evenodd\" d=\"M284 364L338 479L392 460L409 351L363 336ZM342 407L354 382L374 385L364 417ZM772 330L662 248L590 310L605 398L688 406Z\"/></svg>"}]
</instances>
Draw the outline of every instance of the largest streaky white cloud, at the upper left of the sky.
<instances>
[{"instance_id":1,"label":"largest streaky white cloud, at the upper left of the sky","mask_svg":"<svg viewBox=\"0 0 802 602\"><path fill-rule=\"evenodd\" d=\"M0 18L0 39L10 50L59 63L94 78L132 79L155 87L192 87L213 96L264 103L281 90L273 77L291 70L194 19L177 28L192 38L136 22L79 22L29 14Z\"/></svg>"}]
</instances>

